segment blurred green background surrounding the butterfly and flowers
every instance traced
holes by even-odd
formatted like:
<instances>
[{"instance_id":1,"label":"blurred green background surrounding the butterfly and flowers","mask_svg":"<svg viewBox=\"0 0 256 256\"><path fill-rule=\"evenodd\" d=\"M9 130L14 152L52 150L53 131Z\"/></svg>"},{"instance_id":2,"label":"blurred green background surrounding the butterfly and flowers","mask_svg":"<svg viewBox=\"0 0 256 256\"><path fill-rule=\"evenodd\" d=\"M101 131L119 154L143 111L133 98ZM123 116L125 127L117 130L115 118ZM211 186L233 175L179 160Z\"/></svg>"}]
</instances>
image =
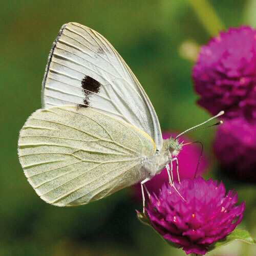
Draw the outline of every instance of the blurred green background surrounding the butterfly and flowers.
<instances>
[{"instance_id":1,"label":"blurred green background surrounding the butterfly and flowers","mask_svg":"<svg viewBox=\"0 0 256 256\"><path fill-rule=\"evenodd\" d=\"M2 1L0 255L185 255L136 219L142 206L131 200L129 188L79 207L42 201L18 161L19 130L40 109L49 50L68 22L91 27L111 42L150 97L162 130L200 123L209 115L195 103L191 82L197 47L220 29L255 27L254 7L254 0ZM238 190L239 202L246 201L240 227L255 237L255 186L218 172L211 153L214 130L190 137L204 143L214 163L207 177L222 179L227 189ZM234 242L209 255L256 255L254 250Z\"/></svg>"}]
</instances>

